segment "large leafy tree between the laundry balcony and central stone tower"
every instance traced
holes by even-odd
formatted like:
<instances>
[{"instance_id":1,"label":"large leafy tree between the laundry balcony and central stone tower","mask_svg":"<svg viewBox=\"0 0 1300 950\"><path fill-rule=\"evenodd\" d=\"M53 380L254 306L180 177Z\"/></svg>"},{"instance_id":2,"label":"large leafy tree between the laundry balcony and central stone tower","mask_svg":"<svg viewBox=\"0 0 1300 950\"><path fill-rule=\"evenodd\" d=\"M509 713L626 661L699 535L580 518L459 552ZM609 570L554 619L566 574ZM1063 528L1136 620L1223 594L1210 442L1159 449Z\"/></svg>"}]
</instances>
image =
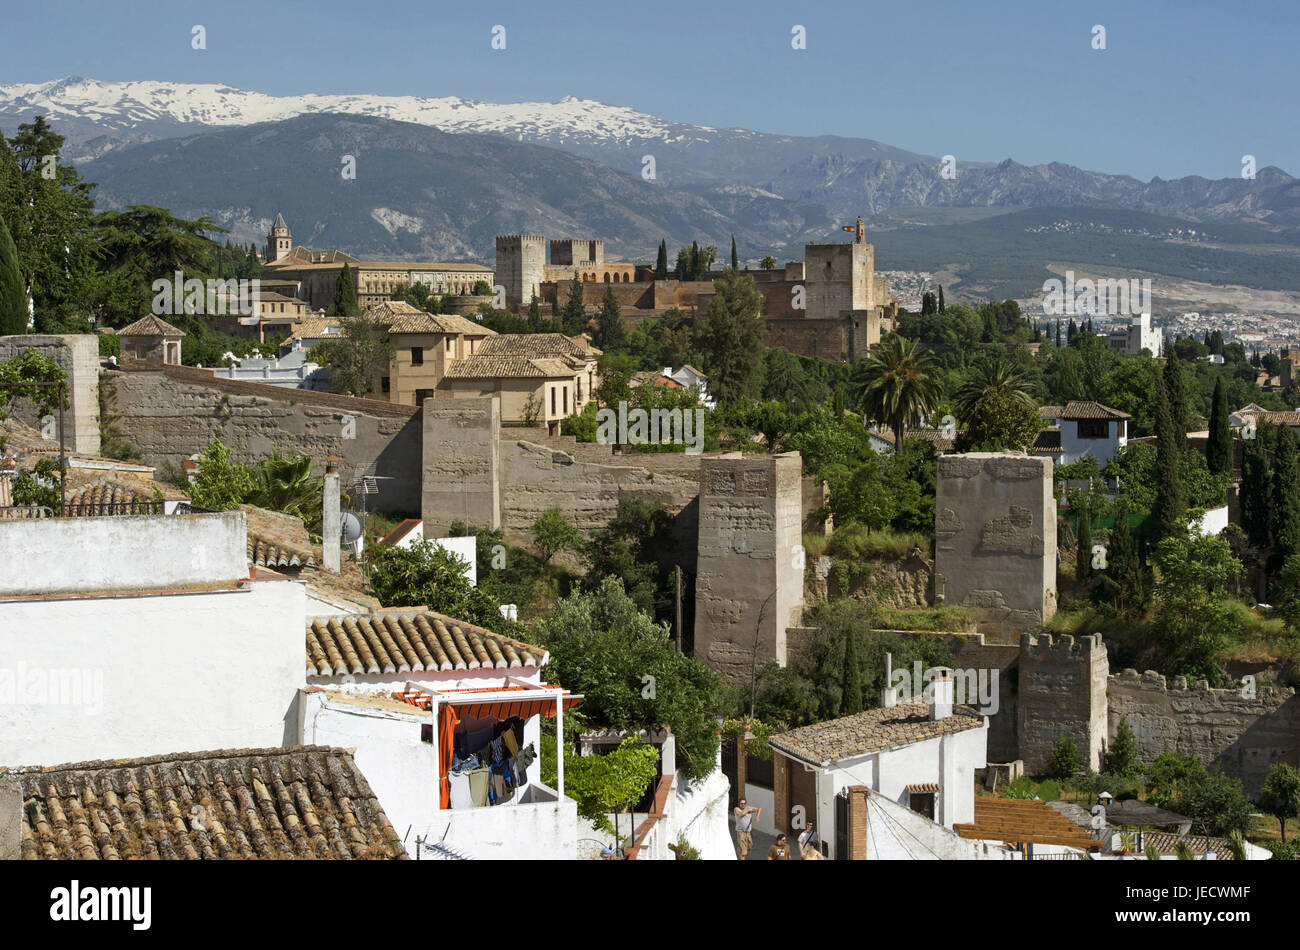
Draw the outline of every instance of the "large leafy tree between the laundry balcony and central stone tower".
<instances>
[{"instance_id":1,"label":"large leafy tree between the laundry balcony and central stone tower","mask_svg":"<svg viewBox=\"0 0 1300 950\"><path fill-rule=\"evenodd\" d=\"M679 654L668 626L640 611L619 578L560 599L534 637L550 652L545 677L585 697L589 723L612 729L667 725L681 773L694 780L712 771L715 717L722 713L718 674Z\"/></svg>"}]
</instances>

